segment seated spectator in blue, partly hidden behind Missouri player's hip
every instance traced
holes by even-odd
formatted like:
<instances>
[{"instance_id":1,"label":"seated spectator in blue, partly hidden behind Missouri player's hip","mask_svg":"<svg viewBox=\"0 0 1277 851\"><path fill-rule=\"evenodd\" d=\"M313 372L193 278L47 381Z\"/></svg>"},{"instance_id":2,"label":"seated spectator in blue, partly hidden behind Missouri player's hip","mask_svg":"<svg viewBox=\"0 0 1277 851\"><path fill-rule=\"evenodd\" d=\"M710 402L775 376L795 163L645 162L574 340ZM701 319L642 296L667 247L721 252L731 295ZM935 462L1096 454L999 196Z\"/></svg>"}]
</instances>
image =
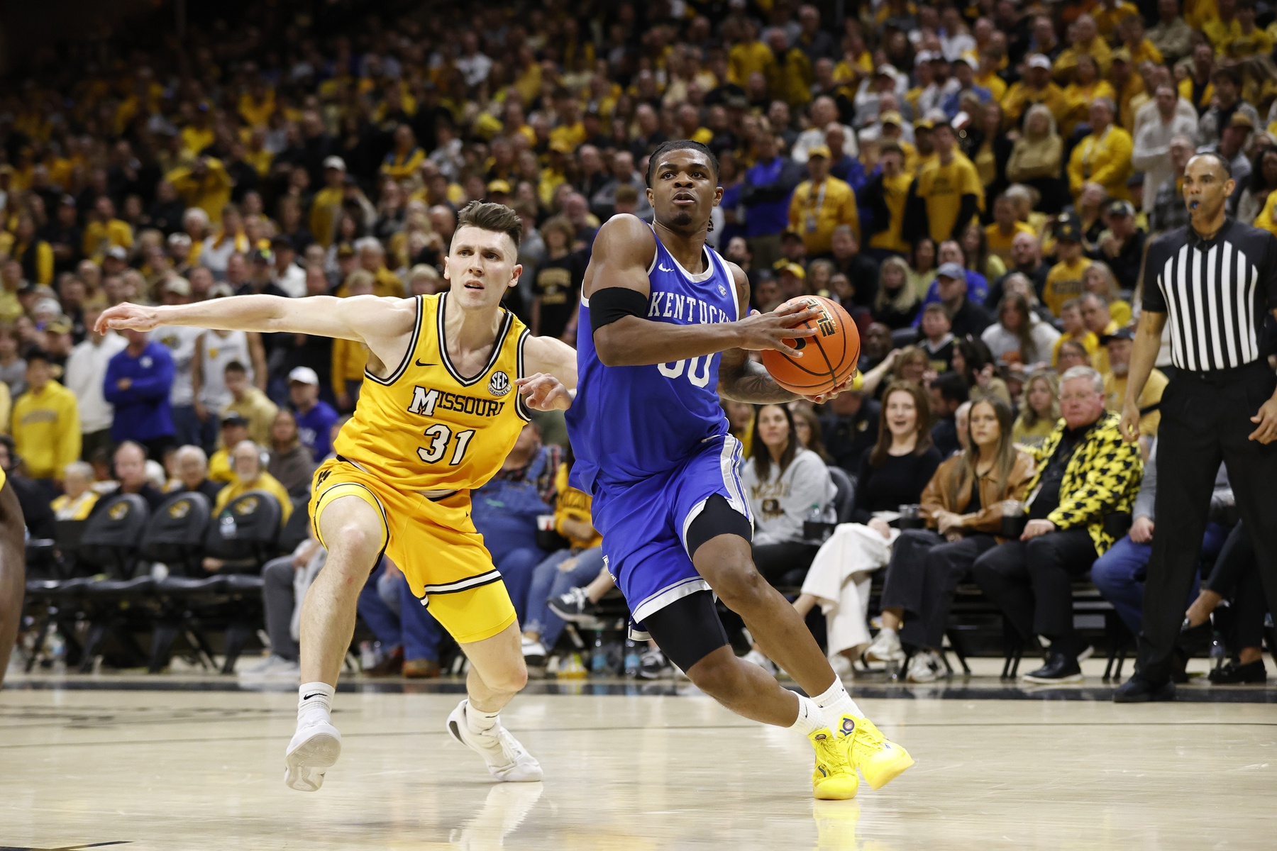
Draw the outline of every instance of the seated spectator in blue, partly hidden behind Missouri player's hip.
<instances>
[{"instance_id":1,"label":"seated spectator in blue, partly hidden behind Missouri player's hip","mask_svg":"<svg viewBox=\"0 0 1277 851\"><path fill-rule=\"evenodd\" d=\"M536 518L554 513L557 471L557 453L541 445L540 429L529 422L501 471L470 496L470 519L501 572L520 623L527 614L533 573L549 555L536 545Z\"/></svg>"}]
</instances>

